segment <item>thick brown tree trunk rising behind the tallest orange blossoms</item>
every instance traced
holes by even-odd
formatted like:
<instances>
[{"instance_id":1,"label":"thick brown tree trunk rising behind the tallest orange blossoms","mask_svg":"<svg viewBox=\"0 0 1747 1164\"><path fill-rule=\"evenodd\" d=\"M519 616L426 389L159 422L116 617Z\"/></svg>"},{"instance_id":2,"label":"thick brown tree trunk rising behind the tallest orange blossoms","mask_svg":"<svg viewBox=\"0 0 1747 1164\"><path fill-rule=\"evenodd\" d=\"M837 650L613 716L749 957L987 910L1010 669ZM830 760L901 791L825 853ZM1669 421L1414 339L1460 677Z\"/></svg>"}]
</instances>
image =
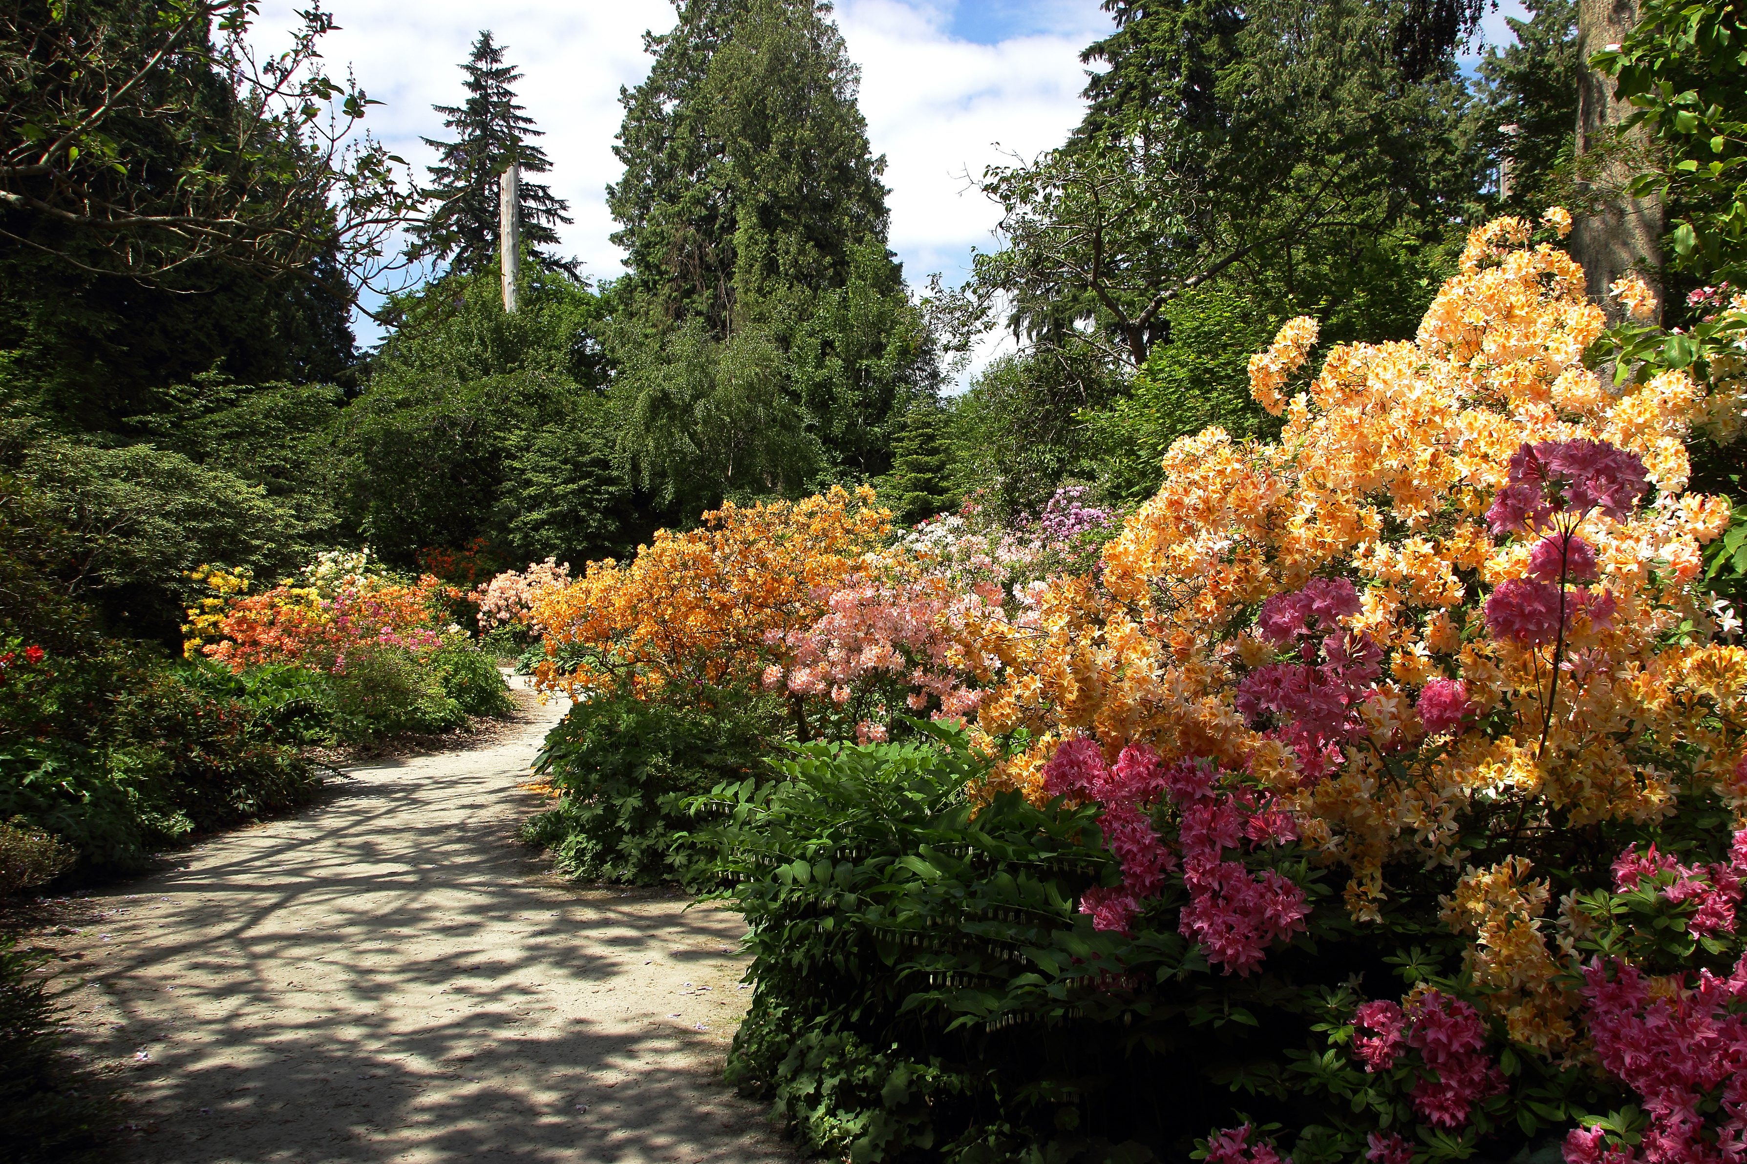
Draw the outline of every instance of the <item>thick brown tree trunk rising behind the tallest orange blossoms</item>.
<instances>
[{"instance_id":1,"label":"thick brown tree trunk rising behind the tallest orange blossoms","mask_svg":"<svg viewBox=\"0 0 1747 1164\"><path fill-rule=\"evenodd\" d=\"M1614 98L1612 77L1586 65L1592 54L1625 40L1637 14L1637 0L1578 0L1578 58L1585 61L1578 73L1578 190L1588 195L1588 206L1572 208L1578 213L1571 253L1583 264L1590 298L1607 312L1609 325L1619 323L1625 312L1607 288L1633 267L1656 293L1656 318L1661 318L1661 236L1667 230L1661 197L1626 194L1649 134L1642 126L1619 133L1632 103Z\"/></svg>"}]
</instances>

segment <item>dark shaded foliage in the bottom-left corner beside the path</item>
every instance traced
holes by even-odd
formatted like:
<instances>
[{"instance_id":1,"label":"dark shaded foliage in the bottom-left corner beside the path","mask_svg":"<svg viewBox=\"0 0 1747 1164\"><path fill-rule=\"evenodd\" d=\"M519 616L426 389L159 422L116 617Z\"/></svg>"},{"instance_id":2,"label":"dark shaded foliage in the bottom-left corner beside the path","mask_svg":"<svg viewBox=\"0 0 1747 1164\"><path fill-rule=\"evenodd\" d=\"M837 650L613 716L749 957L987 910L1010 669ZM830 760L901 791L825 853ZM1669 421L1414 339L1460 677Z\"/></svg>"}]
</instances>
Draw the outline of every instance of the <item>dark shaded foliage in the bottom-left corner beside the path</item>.
<instances>
[{"instance_id":1,"label":"dark shaded foliage in the bottom-left corner beside the path","mask_svg":"<svg viewBox=\"0 0 1747 1164\"><path fill-rule=\"evenodd\" d=\"M56 1007L42 969L47 955L0 937L0 1140L17 1164L91 1159L114 1119L96 1080L59 1051Z\"/></svg>"}]
</instances>

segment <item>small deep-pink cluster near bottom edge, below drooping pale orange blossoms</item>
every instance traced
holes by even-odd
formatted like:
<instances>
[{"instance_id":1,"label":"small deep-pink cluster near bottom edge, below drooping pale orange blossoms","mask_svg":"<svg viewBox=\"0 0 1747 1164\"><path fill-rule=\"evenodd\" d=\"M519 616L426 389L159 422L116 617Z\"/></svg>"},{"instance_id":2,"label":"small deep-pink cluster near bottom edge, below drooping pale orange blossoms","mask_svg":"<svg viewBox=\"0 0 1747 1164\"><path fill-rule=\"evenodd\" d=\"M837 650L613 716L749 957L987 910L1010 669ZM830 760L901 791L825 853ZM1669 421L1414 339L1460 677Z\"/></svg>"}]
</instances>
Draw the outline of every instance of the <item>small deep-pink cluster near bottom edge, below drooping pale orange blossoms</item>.
<instances>
[{"instance_id":1,"label":"small deep-pink cluster near bottom edge, below drooping pale orange blossoms","mask_svg":"<svg viewBox=\"0 0 1747 1164\"><path fill-rule=\"evenodd\" d=\"M1352 1024L1354 1051L1366 1072L1391 1070L1408 1047L1420 1052L1431 1075L1420 1075L1410 1094L1427 1124L1460 1127L1474 1103L1504 1091L1504 1075L1485 1054L1487 1026L1460 998L1427 989L1405 1007L1368 1002L1354 1012Z\"/></svg>"}]
</instances>

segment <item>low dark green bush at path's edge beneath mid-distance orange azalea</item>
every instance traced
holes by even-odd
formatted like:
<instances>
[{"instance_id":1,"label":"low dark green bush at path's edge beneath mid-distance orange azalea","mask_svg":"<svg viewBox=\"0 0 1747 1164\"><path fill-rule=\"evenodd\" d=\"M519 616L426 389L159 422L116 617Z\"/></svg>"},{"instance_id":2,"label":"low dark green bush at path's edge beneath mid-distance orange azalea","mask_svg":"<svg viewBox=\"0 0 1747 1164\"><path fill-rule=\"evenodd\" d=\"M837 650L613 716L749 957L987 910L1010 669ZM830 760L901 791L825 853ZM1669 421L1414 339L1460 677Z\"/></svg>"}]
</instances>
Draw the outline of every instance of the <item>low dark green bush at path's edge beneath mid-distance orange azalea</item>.
<instances>
[{"instance_id":1,"label":"low dark green bush at path's edge beneath mid-distance orange azalea","mask_svg":"<svg viewBox=\"0 0 1747 1164\"><path fill-rule=\"evenodd\" d=\"M547 736L535 773L557 806L522 827L570 876L653 885L683 878L690 853L681 799L742 780L762 761L767 728L739 712L632 698L577 703Z\"/></svg>"}]
</instances>

